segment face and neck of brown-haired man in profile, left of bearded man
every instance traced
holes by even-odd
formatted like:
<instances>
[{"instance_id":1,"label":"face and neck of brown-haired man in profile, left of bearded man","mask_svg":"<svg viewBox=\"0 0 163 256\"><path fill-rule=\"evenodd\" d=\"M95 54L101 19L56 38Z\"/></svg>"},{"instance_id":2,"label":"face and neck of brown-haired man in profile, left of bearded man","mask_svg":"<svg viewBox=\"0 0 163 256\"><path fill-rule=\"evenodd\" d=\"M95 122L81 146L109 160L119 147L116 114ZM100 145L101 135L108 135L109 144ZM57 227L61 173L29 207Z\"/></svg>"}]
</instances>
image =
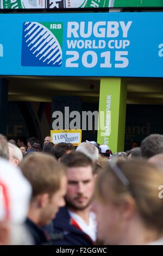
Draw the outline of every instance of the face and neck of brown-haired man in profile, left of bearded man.
<instances>
[{"instance_id":1,"label":"face and neck of brown-haired man in profile, left of bearded man","mask_svg":"<svg viewBox=\"0 0 163 256\"><path fill-rule=\"evenodd\" d=\"M55 218L59 208L65 206L66 189L67 178L62 176L59 190L49 197L46 206L42 209L40 225L48 225Z\"/></svg>"}]
</instances>

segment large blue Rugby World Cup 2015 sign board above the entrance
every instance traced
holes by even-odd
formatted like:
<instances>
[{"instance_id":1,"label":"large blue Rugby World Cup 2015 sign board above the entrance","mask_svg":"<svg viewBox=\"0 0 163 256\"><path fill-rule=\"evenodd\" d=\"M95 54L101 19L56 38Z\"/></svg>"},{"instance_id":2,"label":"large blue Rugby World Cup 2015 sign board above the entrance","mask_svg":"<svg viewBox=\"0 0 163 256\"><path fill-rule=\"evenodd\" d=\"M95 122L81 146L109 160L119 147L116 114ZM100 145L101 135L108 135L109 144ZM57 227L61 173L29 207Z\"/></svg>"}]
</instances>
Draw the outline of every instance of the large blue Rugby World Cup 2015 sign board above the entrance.
<instances>
[{"instance_id":1,"label":"large blue Rugby World Cup 2015 sign board above the entrance","mask_svg":"<svg viewBox=\"0 0 163 256\"><path fill-rule=\"evenodd\" d=\"M0 75L163 77L163 13L1 14Z\"/></svg>"}]
</instances>

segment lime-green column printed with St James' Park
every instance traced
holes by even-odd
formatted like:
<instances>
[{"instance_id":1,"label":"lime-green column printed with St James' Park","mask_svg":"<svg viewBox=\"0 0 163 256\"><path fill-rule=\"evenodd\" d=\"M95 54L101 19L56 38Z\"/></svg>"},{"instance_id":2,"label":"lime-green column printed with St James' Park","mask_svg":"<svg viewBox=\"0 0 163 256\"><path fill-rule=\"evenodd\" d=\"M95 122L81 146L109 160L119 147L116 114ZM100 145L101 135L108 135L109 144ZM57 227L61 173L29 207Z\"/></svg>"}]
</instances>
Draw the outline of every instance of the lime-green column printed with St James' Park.
<instances>
[{"instance_id":1,"label":"lime-green column printed with St James' Park","mask_svg":"<svg viewBox=\"0 0 163 256\"><path fill-rule=\"evenodd\" d=\"M126 78L101 78L97 142L112 153L124 150L126 100Z\"/></svg>"}]
</instances>

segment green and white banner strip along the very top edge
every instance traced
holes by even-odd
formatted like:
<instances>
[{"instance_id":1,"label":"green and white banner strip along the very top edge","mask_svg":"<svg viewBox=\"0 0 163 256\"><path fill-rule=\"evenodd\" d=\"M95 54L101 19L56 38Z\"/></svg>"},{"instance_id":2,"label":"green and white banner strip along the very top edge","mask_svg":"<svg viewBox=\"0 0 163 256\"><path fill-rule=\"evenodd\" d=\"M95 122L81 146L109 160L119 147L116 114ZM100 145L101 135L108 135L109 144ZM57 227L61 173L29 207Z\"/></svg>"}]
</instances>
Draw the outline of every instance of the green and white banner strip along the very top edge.
<instances>
[{"instance_id":1,"label":"green and white banner strip along the very top edge","mask_svg":"<svg viewBox=\"0 0 163 256\"><path fill-rule=\"evenodd\" d=\"M163 0L0 0L0 9L163 7Z\"/></svg>"}]
</instances>

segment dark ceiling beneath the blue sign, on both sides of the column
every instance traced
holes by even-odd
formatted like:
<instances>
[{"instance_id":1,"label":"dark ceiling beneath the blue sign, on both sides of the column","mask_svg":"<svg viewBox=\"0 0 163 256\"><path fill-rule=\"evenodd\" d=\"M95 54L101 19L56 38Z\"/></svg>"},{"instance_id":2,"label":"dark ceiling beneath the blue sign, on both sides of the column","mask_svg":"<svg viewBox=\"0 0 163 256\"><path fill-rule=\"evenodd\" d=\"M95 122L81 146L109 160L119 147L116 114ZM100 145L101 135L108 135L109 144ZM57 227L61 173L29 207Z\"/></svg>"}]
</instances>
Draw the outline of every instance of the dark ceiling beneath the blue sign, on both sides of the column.
<instances>
[{"instance_id":1,"label":"dark ceiling beneath the blue sign, on both sides of the column","mask_svg":"<svg viewBox=\"0 0 163 256\"><path fill-rule=\"evenodd\" d=\"M97 77L10 76L9 101L50 102L53 95L76 95L84 102L98 102ZM163 104L163 78L128 78L127 103Z\"/></svg>"}]
</instances>

